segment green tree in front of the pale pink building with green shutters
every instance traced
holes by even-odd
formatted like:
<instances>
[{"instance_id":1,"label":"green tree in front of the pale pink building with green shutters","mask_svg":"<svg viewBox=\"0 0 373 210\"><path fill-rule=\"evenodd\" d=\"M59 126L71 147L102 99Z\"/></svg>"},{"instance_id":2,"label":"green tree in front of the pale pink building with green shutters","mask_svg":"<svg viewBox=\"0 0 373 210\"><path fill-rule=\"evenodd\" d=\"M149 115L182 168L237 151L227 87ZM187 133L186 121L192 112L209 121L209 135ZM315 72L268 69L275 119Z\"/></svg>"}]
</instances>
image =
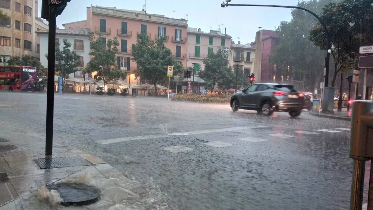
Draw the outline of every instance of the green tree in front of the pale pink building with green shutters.
<instances>
[{"instance_id":1,"label":"green tree in front of the pale pink building with green shutters","mask_svg":"<svg viewBox=\"0 0 373 210\"><path fill-rule=\"evenodd\" d=\"M203 59L203 64L205 68L200 72L200 77L203 80L213 86L217 83L229 87L229 84L232 83L233 71L228 66L228 55L219 52L211 53Z\"/></svg>"}]
</instances>

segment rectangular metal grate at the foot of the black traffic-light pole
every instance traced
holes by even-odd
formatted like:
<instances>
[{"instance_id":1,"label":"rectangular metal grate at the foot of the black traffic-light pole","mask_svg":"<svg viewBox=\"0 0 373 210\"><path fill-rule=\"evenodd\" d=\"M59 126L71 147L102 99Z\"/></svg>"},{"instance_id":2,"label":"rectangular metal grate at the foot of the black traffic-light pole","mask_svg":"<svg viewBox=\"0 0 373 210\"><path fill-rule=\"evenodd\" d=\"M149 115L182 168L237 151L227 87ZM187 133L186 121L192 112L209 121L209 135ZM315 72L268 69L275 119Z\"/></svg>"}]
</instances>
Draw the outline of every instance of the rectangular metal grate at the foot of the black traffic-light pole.
<instances>
[{"instance_id":1,"label":"rectangular metal grate at the foot of the black traffic-light pole","mask_svg":"<svg viewBox=\"0 0 373 210\"><path fill-rule=\"evenodd\" d=\"M91 166L81 157L39 158L34 160L40 169L54 169L73 166Z\"/></svg>"}]
</instances>

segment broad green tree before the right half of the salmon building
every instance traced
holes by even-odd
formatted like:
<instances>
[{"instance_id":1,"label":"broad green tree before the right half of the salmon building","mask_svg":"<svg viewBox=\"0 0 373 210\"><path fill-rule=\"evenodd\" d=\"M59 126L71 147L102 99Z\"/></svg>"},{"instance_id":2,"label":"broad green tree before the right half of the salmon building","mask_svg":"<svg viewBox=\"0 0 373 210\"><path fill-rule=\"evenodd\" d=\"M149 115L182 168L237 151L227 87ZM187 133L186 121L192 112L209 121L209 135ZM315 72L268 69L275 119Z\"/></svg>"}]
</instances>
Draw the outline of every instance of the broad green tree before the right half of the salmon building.
<instances>
[{"instance_id":1,"label":"broad green tree before the right half of the salmon building","mask_svg":"<svg viewBox=\"0 0 373 210\"><path fill-rule=\"evenodd\" d=\"M150 84L154 84L157 94L157 84L168 81L167 66L174 66L174 74L181 73L183 67L172 57L172 52L164 46L166 37L156 41L151 40L146 34L137 35L137 43L132 44L132 60L137 64L136 72L145 77Z\"/></svg>"}]
</instances>

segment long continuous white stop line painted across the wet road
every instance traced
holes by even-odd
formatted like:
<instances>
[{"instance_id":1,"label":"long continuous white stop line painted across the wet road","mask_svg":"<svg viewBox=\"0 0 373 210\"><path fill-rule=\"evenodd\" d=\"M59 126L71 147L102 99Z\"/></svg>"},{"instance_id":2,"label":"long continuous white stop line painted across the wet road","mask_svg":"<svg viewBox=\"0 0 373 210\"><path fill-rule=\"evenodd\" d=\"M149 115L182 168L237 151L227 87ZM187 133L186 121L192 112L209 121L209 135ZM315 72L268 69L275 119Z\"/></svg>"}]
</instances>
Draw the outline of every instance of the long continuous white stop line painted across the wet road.
<instances>
[{"instance_id":1,"label":"long continuous white stop line painted across the wet road","mask_svg":"<svg viewBox=\"0 0 373 210\"><path fill-rule=\"evenodd\" d=\"M230 128L222 128L222 129L196 130L196 131L190 131L190 132L179 132L179 133L158 134L158 135L148 135L148 136L130 136L130 137L117 138L117 139L97 140L96 142L100 144L109 144L109 143L126 142L126 141L133 141L133 140L167 138L170 136L188 136L188 135L198 135L198 134L206 134L206 133L229 132L229 131L234 131L234 130L245 130L246 131L247 129L266 128L266 127L268 126L230 127Z\"/></svg>"}]
</instances>

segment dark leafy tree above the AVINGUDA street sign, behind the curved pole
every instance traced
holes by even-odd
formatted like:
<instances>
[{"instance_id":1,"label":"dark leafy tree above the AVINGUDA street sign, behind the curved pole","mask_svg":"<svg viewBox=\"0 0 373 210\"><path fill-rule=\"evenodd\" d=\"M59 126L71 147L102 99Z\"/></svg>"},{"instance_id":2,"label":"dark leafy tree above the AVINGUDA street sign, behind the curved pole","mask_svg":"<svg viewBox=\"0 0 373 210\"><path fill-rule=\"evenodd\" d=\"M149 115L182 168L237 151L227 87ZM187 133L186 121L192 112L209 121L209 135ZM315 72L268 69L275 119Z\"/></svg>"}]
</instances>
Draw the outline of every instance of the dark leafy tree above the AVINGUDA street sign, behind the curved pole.
<instances>
[{"instance_id":1,"label":"dark leafy tree above the AVINGUDA street sign, behind the curved pole","mask_svg":"<svg viewBox=\"0 0 373 210\"><path fill-rule=\"evenodd\" d=\"M359 47L373 43L373 0L344 0L323 8L320 18L326 23L332 46L334 75L357 67ZM310 40L326 50L327 38L321 24L310 30Z\"/></svg>"}]
</instances>

